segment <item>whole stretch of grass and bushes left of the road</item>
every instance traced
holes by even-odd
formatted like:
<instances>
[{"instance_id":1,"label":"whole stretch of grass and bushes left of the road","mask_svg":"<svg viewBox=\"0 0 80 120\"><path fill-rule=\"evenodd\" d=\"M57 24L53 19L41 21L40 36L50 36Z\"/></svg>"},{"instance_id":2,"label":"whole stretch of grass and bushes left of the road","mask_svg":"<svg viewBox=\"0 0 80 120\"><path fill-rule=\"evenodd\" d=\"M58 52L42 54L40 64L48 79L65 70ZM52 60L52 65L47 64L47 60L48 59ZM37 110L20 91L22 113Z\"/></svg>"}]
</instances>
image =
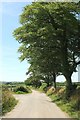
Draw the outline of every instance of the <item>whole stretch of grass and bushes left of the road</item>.
<instances>
[{"instance_id":1,"label":"whole stretch of grass and bushes left of the road","mask_svg":"<svg viewBox=\"0 0 80 120\"><path fill-rule=\"evenodd\" d=\"M11 111L15 105L18 103L18 100L13 96L14 94L28 94L31 93L29 86L26 86L24 82L4 82L2 84L2 103L1 103L1 114Z\"/></svg>"}]
</instances>

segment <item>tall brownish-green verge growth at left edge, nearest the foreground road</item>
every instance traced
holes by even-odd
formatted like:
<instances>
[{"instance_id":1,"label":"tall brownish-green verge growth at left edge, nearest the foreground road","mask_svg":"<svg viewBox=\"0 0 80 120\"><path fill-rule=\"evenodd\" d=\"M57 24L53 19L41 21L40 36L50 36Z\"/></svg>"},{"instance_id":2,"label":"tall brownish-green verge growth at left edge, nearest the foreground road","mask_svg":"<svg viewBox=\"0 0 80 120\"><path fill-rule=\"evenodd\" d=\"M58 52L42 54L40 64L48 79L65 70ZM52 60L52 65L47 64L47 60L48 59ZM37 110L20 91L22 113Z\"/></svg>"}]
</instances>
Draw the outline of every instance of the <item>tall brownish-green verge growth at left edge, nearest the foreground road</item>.
<instances>
[{"instance_id":1,"label":"tall brownish-green verge growth at left edge, nearest the foreground road","mask_svg":"<svg viewBox=\"0 0 80 120\"><path fill-rule=\"evenodd\" d=\"M17 102L18 101L13 97L12 93L8 89L2 89L2 114L12 110Z\"/></svg>"}]
</instances>

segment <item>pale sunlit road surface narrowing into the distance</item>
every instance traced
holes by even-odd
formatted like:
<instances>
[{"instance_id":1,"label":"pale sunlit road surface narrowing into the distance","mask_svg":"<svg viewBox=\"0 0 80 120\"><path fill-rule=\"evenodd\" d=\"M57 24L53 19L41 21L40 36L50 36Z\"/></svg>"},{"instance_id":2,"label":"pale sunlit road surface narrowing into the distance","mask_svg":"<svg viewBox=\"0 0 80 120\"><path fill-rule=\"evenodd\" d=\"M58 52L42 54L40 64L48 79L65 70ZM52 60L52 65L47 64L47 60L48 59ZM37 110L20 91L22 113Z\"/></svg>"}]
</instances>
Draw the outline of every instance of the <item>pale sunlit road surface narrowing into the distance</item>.
<instances>
[{"instance_id":1,"label":"pale sunlit road surface narrowing into the distance","mask_svg":"<svg viewBox=\"0 0 80 120\"><path fill-rule=\"evenodd\" d=\"M14 95L19 100L15 108L3 118L69 118L51 102L44 93L33 90L31 94Z\"/></svg>"}]
</instances>

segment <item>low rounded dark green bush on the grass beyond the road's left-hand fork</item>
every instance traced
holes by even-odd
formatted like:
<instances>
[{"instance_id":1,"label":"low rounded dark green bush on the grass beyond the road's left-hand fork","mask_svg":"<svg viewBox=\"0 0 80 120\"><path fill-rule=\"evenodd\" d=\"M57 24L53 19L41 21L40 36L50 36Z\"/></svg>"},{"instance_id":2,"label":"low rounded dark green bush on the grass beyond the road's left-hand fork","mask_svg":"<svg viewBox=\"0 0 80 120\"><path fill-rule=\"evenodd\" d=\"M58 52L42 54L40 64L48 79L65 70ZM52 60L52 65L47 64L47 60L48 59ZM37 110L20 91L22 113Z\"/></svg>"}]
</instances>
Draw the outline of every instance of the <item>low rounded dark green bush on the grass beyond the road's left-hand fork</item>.
<instances>
[{"instance_id":1,"label":"low rounded dark green bush on the grass beyond the road's left-hand fork","mask_svg":"<svg viewBox=\"0 0 80 120\"><path fill-rule=\"evenodd\" d=\"M29 87L18 86L14 89L14 92L17 94L31 93L31 89Z\"/></svg>"}]
</instances>

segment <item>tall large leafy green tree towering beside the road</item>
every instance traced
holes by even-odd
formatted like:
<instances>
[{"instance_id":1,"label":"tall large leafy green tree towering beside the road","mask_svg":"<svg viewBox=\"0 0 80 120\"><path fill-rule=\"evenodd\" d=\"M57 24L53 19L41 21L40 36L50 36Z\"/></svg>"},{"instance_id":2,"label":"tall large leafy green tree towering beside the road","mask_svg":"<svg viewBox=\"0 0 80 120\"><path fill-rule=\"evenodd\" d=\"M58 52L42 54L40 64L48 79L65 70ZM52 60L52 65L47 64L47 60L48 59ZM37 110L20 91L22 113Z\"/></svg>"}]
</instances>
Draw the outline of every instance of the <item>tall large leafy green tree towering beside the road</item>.
<instances>
[{"instance_id":1,"label":"tall large leafy green tree towering beside the road","mask_svg":"<svg viewBox=\"0 0 80 120\"><path fill-rule=\"evenodd\" d=\"M48 78L62 73L67 82L67 96L72 90L71 75L80 64L78 6L79 3L32 3L24 7L20 17L22 26L14 31L21 43L20 59L36 63Z\"/></svg>"}]
</instances>

